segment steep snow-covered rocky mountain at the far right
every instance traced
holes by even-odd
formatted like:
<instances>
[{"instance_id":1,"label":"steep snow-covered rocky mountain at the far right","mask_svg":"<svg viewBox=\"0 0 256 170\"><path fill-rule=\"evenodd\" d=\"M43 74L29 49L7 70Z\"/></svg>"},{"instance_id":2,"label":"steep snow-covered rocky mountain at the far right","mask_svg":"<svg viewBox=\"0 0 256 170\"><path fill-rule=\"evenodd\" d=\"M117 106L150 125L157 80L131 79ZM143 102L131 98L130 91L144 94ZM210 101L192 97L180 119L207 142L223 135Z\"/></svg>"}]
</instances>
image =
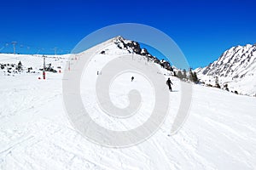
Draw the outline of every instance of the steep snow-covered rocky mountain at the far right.
<instances>
[{"instance_id":1,"label":"steep snow-covered rocky mountain at the far right","mask_svg":"<svg viewBox=\"0 0 256 170\"><path fill-rule=\"evenodd\" d=\"M222 54L205 68L195 70L201 82L215 85L216 77L221 87L228 85L239 94L256 94L256 44L236 46Z\"/></svg>"}]
</instances>

